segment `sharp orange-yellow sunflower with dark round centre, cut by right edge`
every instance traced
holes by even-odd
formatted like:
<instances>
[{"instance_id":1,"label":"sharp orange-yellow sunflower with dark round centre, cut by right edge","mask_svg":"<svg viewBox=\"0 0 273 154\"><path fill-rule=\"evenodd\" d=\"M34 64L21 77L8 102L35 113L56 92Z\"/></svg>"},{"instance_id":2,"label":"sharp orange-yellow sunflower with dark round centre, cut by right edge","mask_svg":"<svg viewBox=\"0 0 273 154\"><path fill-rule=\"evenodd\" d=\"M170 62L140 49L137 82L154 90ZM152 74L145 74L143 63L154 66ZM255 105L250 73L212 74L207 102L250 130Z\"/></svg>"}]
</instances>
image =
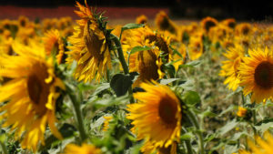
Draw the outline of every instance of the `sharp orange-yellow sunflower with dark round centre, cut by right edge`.
<instances>
[{"instance_id":1,"label":"sharp orange-yellow sunflower with dark round centre, cut by right edge","mask_svg":"<svg viewBox=\"0 0 273 154\"><path fill-rule=\"evenodd\" d=\"M260 103L273 96L273 53L272 50L248 49L239 66L240 86L243 92L251 95L251 102Z\"/></svg>"}]
</instances>

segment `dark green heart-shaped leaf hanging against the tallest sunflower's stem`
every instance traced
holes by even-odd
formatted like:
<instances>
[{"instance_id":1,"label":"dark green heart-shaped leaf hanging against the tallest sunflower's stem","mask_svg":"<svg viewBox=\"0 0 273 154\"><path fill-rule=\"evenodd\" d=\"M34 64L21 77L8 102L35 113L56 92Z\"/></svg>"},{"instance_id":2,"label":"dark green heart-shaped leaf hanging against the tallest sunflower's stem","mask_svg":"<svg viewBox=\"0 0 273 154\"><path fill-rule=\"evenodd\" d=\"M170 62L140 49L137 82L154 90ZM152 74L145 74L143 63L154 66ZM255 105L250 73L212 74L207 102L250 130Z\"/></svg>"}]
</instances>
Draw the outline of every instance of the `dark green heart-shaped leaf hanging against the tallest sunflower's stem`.
<instances>
[{"instance_id":1,"label":"dark green heart-shaped leaf hanging against the tallest sunflower's stem","mask_svg":"<svg viewBox=\"0 0 273 154\"><path fill-rule=\"evenodd\" d=\"M121 97L126 94L132 84L133 81L130 75L116 74L111 79L110 87L115 91L116 97Z\"/></svg>"}]
</instances>

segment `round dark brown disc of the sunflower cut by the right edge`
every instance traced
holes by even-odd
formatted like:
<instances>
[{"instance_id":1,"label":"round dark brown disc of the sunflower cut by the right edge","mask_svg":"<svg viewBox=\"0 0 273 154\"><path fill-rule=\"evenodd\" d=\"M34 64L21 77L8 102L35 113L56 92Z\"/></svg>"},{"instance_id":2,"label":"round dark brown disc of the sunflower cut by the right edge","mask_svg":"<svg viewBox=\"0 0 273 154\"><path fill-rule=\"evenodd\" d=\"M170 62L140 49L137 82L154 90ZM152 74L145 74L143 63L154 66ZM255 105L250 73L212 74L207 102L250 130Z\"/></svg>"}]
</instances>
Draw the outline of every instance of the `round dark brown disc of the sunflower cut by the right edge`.
<instances>
[{"instance_id":1,"label":"round dark brown disc of the sunflower cut by the right edge","mask_svg":"<svg viewBox=\"0 0 273 154\"><path fill-rule=\"evenodd\" d=\"M261 62L255 69L254 78L259 87L273 87L273 64L268 61Z\"/></svg>"}]
</instances>

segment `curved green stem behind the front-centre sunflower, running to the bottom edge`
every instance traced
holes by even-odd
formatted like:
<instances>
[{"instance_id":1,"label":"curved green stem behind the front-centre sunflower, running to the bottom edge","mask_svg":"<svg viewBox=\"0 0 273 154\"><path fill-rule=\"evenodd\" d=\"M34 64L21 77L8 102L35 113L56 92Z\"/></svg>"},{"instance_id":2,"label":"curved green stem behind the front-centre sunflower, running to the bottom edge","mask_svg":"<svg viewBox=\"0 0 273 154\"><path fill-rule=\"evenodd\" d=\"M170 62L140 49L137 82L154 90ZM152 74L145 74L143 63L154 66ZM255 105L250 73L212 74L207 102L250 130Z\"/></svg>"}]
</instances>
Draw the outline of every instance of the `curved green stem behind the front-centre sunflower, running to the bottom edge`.
<instances>
[{"instance_id":1,"label":"curved green stem behind the front-centre sunflower, running to the bottom edge","mask_svg":"<svg viewBox=\"0 0 273 154\"><path fill-rule=\"evenodd\" d=\"M203 139L203 134L200 131L200 126L197 122L197 118L194 115L194 113L188 109L187 116L192 122L192 124L197 128L197 138L199 140L198 145L199 145L199 153L205 154L205 149L204 149L204 139Z\"/></svg>"}]
</instances>

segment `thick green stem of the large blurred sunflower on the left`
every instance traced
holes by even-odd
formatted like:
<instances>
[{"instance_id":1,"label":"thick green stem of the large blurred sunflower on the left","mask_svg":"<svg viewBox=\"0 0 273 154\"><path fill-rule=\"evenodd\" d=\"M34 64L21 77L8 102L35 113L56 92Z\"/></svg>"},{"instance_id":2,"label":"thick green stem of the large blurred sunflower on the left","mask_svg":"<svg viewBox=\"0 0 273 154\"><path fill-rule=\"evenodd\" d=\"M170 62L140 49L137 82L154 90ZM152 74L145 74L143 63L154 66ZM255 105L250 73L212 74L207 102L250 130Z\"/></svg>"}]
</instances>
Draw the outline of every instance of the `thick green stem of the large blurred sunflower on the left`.
<instances>
[{"instance_id":1,"label":"thick green stem of the large blurred sunflower on the left","mask_svg":"<svg viewBox=\"0 0 273 154\"><path fill-rule=\"evenodd\" d=\"M85 126L84 126L82 110L80 108L80 103L76 99L76 96L75 96L73 90L67 85L66 85L66 90L67 90L67 93L69 95L69 98L72 101L73 107L75 109L77 128L78 128L78 131L80 133L80 137L81 137L82 142L83 142L84 140L87 139L87 135L86 135L86 130L85 130Z\"/></svg>"}]
</instances>

